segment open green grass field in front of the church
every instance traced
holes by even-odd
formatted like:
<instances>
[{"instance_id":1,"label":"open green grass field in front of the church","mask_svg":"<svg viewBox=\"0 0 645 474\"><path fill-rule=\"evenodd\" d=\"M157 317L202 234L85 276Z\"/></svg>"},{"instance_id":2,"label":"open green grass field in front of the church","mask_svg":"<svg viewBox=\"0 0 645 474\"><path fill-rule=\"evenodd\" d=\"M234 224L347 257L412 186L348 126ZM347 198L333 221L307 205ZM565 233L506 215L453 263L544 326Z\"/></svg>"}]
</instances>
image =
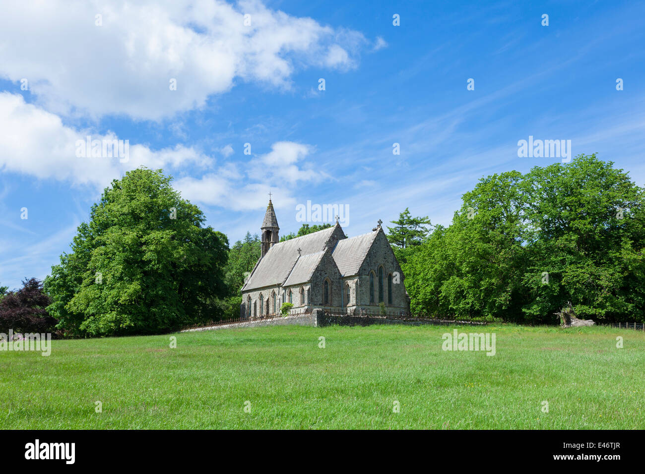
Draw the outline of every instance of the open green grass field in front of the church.
<instances>
[{"instance_id":1,"label":"open green grass field in front of the church","mask_svg":"<svg viewBox=\"0 0 645 474\"><path fill-rule=\"evenodd\" d=\"M495 333L490 357L443 351L454 328L275 326L175 334L174 349L163 335L0 352L1 426L645 428L642 331L458 328Z\"/></svg>"}]
</instances>

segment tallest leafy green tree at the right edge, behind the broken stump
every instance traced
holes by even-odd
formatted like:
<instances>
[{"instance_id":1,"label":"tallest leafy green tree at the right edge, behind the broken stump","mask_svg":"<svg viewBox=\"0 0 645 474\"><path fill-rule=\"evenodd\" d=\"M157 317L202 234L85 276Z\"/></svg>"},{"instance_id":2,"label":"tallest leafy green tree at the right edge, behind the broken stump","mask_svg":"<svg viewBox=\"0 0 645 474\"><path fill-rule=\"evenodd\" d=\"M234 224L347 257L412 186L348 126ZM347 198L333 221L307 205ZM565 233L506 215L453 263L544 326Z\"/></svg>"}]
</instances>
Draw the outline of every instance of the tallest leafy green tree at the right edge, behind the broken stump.
<instances>
[{"instance_id":1,"label":"tallest leafy green tree at the right edge, behind the broken stump","mask_svg":"<svg viewBox=\"0 0 645 474\"><path fill-rule=\"evenodd\" d=\"M581 155L533 168L522 190L531 250L524 312L553 313L571 301L581 317L643 319L644 194L628 174Z\"/></svg>"}]
</instances>

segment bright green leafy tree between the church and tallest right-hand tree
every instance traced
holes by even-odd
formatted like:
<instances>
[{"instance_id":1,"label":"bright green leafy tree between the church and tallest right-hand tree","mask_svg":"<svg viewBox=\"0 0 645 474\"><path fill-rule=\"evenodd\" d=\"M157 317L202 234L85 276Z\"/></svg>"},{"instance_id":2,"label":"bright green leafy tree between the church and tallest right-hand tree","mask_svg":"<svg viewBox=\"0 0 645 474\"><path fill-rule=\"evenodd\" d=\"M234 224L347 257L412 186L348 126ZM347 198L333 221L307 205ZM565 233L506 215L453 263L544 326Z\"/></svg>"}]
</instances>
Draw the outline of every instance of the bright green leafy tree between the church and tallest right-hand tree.
<instances>
[{"instance_id":1,"label":"bright green leafy tree between the church and tallest right-hand tree","mask_svg":"<svg viewBox=\"0 0 645 474\"><path fill-rule=\"evenodd\" d=\"M514 299L524 258L519 180L518 172L482 179L464 194L452 225L437 226L402 264L413 310L499 317L519 304Z\"/></svg>"}]
</instances>

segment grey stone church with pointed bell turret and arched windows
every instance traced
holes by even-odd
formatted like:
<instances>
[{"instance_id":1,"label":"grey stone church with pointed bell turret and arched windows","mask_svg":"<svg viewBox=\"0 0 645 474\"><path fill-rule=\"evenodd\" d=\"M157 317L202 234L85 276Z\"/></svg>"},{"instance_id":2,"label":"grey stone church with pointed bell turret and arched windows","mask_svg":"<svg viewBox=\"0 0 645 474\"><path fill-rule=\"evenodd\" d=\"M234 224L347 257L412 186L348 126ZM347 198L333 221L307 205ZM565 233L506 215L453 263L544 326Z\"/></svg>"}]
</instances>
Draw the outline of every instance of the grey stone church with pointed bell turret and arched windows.
<instances>
[{"instance_id":1,"label":"grey stone church with pointed bell turret and arched windows","mask_svg":"<svg viewBox=\"0 0 645 474\"><path fill-rule=\"evenodd\" d=\"M348 239L335 226L279 241L269 200L261 227L262 252L242 288L241 317L277 315L284 302L293 310L388 314L410 311L403 272L381 228Z\"/></svg>"}]
</instances>

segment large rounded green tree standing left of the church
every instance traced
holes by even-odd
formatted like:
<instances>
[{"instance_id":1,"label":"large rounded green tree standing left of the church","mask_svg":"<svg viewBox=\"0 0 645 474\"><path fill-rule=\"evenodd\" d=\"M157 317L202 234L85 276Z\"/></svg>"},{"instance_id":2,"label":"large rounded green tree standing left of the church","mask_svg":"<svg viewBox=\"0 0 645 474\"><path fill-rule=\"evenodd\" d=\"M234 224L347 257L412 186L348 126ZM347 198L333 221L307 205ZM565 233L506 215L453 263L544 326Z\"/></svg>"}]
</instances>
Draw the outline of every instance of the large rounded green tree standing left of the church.
<instances>
[{"instance_id":1,"label":"large rounded green tree standing left of the church","mask_svg":"<svg viewBox=\"0 0 645 474\"><path fill-rule=\"evenodd\" d=\"M226 296L228 240L162 170L112 181L45 281L50 315L70 335L176 330L211 319Z\"/></svg>"}]
</instances>

